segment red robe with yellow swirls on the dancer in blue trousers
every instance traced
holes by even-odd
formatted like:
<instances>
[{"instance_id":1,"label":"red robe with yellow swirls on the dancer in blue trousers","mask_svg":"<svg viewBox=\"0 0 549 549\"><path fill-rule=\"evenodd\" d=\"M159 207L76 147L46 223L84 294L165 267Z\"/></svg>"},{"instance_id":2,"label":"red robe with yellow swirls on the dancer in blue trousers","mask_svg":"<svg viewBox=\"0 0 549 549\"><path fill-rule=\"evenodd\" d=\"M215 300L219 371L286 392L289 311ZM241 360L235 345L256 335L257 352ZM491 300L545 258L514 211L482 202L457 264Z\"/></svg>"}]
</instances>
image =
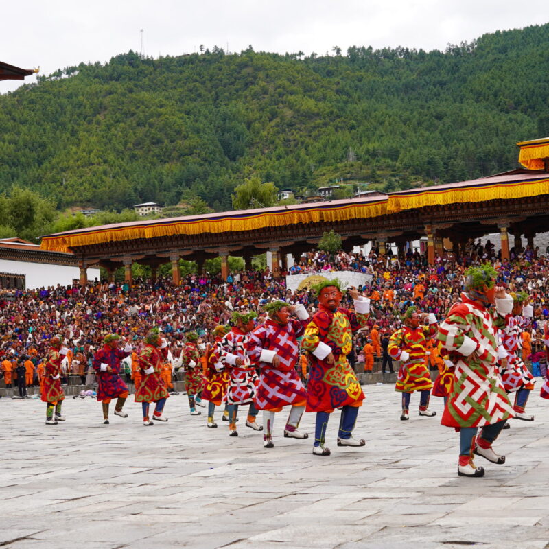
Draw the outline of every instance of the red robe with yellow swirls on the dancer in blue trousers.
<instances>
[{"instance_id":1,"label":"red robe with yellow swirls on the dancer in blue trousers","mask_svg":"<svg viewBox=\"0 0 549 549\"><path fill-rule=\"evenodd\" d=\"M355 307L357 303L355 301ZM364 393L347 361L347 355L353 347L353 332L366 326L366 320L366 313L358 314L342 308L331 311L323 305L318 306L318 312L307 325L301 342L303 349L312 353L307 382L307 412L332 412L340 406L362 404ZM329 347L335 364L327 364L325 357L318 358L319 349L325 349L323 346Z\"/></svg>"}]
</instances>

